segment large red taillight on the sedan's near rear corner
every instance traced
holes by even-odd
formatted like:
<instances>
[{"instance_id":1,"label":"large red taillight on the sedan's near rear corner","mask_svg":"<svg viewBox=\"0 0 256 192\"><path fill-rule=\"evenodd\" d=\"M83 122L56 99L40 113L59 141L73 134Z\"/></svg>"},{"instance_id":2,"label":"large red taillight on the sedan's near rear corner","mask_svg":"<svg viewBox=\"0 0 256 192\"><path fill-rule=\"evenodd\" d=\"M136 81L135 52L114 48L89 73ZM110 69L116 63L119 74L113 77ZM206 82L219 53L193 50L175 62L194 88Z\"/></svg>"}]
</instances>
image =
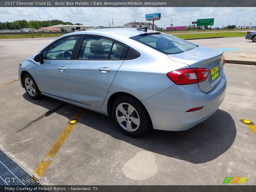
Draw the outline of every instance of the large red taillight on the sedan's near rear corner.
<instances>
[{"instance_id":1,"label":"large red taillight on the sedan's near rear corner","mask_svg":"<svg viewBox=\"0 0 256 192\"><path fill-rule=\"evenodd\" d=\"M188 85L205 81L209 72L210 69L207 68L186 68L171 71L167 76L177 85Z\"/></svg>"}]
</instances>

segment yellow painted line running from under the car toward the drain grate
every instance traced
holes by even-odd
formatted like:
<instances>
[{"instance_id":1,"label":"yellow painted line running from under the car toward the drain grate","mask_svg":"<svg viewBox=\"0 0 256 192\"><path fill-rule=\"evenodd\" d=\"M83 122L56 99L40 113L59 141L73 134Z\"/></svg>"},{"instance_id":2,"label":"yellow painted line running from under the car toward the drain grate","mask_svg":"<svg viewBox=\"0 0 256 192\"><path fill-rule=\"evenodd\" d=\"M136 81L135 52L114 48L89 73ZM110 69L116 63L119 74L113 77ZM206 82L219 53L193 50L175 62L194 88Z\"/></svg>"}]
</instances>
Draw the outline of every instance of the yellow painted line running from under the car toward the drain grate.
<instances>
[{"instance_id":1,"label":"yellow painted line running from under the car toward the drain grate","mask_svg":"<svg viewBox=\"0 0 256 192\"><path fill-rule=\"evenodd\" d=\"M78 120L82 113L84 112L83 108L80 108L79 111L76 113L76 115L73 117L73 119ZM47 155L44 157L44 159L41 161L41 163L36 167L35 173L38 177L42 177L45 170L49 166L49 164L52 162L53 157L56 155L56 153L59 151L60 147L64 143L64 141L67 139L69 133L72 131L72 129L75 127L76 124L68 124L66 129L61 133L60 137L56 140L50 151L47 153Z\"/></svg>"}]
</instances>

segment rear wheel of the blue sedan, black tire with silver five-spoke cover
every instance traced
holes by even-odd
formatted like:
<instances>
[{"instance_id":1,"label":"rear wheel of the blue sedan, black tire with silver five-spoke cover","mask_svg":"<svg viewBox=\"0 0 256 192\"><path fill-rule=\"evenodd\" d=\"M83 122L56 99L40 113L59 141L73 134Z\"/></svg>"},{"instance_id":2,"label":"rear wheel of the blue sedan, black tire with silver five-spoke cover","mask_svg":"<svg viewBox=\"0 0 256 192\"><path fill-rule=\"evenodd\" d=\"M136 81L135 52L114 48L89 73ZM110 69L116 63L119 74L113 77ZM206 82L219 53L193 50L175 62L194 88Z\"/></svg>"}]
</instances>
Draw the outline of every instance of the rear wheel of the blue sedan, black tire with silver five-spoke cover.
<instances>
[{"instance_id":1,"label":"rear wheel of the blue sedan, black tire with silver five-spoke cover","mask_svg":"<svg viewBox=\"0 0 256 192\"><path fill-rule=\"evenodd\" d=\"M128 104L128 106L126 104ZM120 108L120 106L123 106L123 109L124 109L123 112L128 113L128 114L123 114L119 109L117 109L117 107ZM135 109L135 110L133 110L132 114L128 112L129 106L131 106ZM123 119L120 120L120 121L123 121L122 123L119 123L117 121L118 116L121 119L125 118L124 121L123 121ZM118 126L118 128L125 134L132 136L132 137L140 137L152 129L152 123L151 123L151 119L148 115L148 111L138 100L136 100L130 96L120 96L120 97L116 98L116 100L113 102L113 105L112 105L112 117L114 119L114 122ZM139 120L139 121L137 121L137 120ZM127 131L128 130L127 123L129 123L129 122L130 122L129 129L132 131ZM138 122L140 122L139 126L134 124L134 122L136 124ZM125 129L124 127L126 127L127 129Z\"/></svg>"}]
</instances>

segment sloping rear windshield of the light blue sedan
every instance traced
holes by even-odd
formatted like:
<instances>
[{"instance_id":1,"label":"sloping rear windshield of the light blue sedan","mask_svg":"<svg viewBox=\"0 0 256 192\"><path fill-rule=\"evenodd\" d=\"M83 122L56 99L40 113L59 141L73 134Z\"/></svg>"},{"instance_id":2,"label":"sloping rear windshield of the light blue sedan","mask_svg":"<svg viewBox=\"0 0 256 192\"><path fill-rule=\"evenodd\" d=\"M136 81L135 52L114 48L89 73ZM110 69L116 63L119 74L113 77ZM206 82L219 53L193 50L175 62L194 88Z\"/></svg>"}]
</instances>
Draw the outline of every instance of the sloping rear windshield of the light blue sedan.
<instances>
[{"instance_id":1,"label":"sloping rear windshield of the light blue sedan","mask_svg":"<svg viewBox=\"0 0 256 192\"><path fill-rule=\"evenodd\" d=\"M177 54L195 49L197 45L164 33L146 34L130 37L165 54Z\"/></svg>"}]
</instances>

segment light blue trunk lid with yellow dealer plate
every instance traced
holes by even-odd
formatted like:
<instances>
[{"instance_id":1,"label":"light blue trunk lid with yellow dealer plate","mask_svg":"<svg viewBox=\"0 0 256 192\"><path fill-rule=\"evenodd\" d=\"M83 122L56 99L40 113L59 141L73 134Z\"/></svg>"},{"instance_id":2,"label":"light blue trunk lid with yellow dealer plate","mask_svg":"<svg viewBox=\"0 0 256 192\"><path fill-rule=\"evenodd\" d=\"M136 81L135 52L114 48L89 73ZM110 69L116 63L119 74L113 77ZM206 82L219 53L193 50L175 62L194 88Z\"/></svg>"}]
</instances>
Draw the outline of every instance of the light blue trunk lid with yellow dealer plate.
<instances>
[{"instance_id":1,"label":"light blue trunk lid with yellow dealer plate","mask_svg":"<svg viewBox=\"0 0 256 192\"><path fill-rule=\"evenodd\" d=\"M199 46L187 52L168 54L171 60L189 65L191 68L208 68L208 78L198 83L202 92L212 91L221 81L223 74L223 51Z\"/></svg>"}]
</instances>

